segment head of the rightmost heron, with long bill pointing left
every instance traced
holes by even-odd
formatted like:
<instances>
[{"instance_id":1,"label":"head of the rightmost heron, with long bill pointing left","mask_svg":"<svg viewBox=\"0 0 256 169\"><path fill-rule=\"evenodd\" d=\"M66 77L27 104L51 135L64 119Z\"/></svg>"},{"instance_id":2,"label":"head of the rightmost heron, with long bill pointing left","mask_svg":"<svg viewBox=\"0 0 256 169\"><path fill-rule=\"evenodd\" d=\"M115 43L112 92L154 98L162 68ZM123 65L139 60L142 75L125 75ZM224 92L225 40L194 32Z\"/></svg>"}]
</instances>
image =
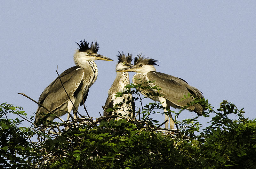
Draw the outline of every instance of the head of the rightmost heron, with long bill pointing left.
<instances>
[{"instance_id":1,"label":"head of the rightmost heron, with long bill pointing left","mask_svg":"<svg viewBox=\"0 0 256 169\"><path fill-rule=\"evenodd\" d=\"M148 73L150 71L156 71L156 68L154 67L154 65L157 65L156 64L157 62L159 61L145 58L144 56L141 56L141 54L139 54L135 57L133 66L116 70L116 72Z\"/></svg>"}]
</instances>

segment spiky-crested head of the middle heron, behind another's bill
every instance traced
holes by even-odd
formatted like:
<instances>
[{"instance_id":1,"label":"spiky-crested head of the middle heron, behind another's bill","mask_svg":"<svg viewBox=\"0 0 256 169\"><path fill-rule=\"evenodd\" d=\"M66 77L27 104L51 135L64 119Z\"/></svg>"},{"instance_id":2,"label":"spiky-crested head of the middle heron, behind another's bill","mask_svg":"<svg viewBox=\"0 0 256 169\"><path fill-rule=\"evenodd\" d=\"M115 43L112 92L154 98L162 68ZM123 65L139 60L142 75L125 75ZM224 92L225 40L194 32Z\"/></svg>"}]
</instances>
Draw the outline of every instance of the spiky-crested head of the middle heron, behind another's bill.
<instances>
[{"instance_id":1,"label":"spiky-crested head of the middle heron, behind another's bill","mask_svg":"<svg viewBox=\"0 0 256 169\"><path fill-rule=\"evenodd\" d=\"M119 51L118 51L118 52L119 52ZM122 51L122 53L119 52L119 54L117 54L117 57L118 57L118 62L117 62L117 65L116 65L116 70L133 66L133 65L131 64L131 62L132 62L132 54L129 54L129 53L128 53L128 55L126 55L126 54Z\"/></svg>"}]
</instances>

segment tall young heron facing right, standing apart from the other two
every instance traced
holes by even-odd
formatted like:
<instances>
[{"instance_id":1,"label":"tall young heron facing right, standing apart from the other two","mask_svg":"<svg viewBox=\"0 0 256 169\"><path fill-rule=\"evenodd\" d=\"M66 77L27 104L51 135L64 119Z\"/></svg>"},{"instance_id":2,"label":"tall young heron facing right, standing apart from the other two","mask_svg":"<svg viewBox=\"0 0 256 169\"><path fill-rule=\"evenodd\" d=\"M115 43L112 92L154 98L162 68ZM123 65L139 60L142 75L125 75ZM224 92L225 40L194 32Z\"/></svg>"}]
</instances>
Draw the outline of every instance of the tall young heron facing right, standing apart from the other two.
<instances>
[{"instance_id":1,"label":"tall young heron facing right, standing apart from the other two","mask_svg":"<svg viewBox=\"0 0 256 169\"><path fill-rule=\"evenodd\" d=\"M89 88L96 81L98 76L98 68L93 60L107 60L112 59L98 54L99 45L97 42L92 42L91 46L85 40L80 40L80 44L74 54L74 62L76 66L70 67L60 74L39 97L39 103L50 110L57 116L63 116L73 110L74 115L80 105L82 105L87 96ZM64 88L67 93L65 92ZM70 100L68 98L70 97ZM84 101L84 102L83 102ZM73 106L73 104L74 106ZM41 106L36 110L35 124L44 117L48 112ZM46 116L44 119L53 121L56 116Z\"/></svg>"}]
</instances>

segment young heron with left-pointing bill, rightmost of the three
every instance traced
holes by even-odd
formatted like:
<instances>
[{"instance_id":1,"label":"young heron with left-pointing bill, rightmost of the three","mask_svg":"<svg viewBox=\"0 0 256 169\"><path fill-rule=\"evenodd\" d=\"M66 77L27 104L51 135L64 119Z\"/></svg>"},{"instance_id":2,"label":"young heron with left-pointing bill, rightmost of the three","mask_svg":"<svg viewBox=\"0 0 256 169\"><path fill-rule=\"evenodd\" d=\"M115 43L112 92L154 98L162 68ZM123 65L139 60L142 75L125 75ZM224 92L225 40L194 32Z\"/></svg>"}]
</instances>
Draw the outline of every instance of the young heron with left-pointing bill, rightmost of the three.
<instances>
[{"instance_id":1,"label":"young heron with left-pointing bill, rightmost of the three","mask_svg":"<svg viewBox=\"0 0 256 169\"><path fill-rule=\"evenodd\" d=\"M158 61L153 59L144 58L144 56L138 55L134 60L134 66L123 68L117 70L117 72L136 72L132 77L133 84L140 84L140 81L144 83L146 81L154 81L153 83L149 83L150 86L159 86L161 90L157 91L155 89L147 89L142 90L141 93L147 96L147 93L156 93L158 92L161 96L150 96L149 98L161 102L163 107L166 109L170 109L171 107L174 108L181 108L187 106L187 103L194 101L194 97L190 96L187 99L180 101L184 98L184 95L195 95L198 98L203 98L202 92L200 92L197 88L188 85L186 81L180 79L178 77L171 76L169 74L164 74L160 72L156 72L156 68L154 65L157 65ZM159 65L157 65L159 66ZM203 108L200 104L195 104L187 108L190 111L196 112L198 115L201 115L203 112ZM171 115L171 112L169 112ZM170 122L170 127L174 127L174 122L172 117ZM165 115L165 128L168 128L169 118Z\"/></svg>"}]
</instances>

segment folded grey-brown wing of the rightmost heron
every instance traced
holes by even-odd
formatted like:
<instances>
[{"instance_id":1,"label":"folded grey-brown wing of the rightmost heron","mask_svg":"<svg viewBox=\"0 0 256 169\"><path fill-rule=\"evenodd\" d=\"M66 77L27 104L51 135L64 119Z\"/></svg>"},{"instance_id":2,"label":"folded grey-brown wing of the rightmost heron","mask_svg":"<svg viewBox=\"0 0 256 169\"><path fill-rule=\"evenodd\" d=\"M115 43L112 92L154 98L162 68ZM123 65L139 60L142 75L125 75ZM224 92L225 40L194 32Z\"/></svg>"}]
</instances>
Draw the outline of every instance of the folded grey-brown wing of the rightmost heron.
<instances>
[{"instance_id":1,"label":"folded grey-brown wing of the rightmost heron","mask_svg":"<svg viewBox=\"0 0 256 169\"><path fill-rule=\"evenodd\" d=\"M161 88L158 93L176 106L184 107L187 106L187 103L194 101L192 96L180 101L188 93L199 98L203 97L197 88L190 86L186 81L178 77L154 71L148 72L146 76L148 80L154 81L151 85L157 85Z\"/></svg>"}]
</instances>

